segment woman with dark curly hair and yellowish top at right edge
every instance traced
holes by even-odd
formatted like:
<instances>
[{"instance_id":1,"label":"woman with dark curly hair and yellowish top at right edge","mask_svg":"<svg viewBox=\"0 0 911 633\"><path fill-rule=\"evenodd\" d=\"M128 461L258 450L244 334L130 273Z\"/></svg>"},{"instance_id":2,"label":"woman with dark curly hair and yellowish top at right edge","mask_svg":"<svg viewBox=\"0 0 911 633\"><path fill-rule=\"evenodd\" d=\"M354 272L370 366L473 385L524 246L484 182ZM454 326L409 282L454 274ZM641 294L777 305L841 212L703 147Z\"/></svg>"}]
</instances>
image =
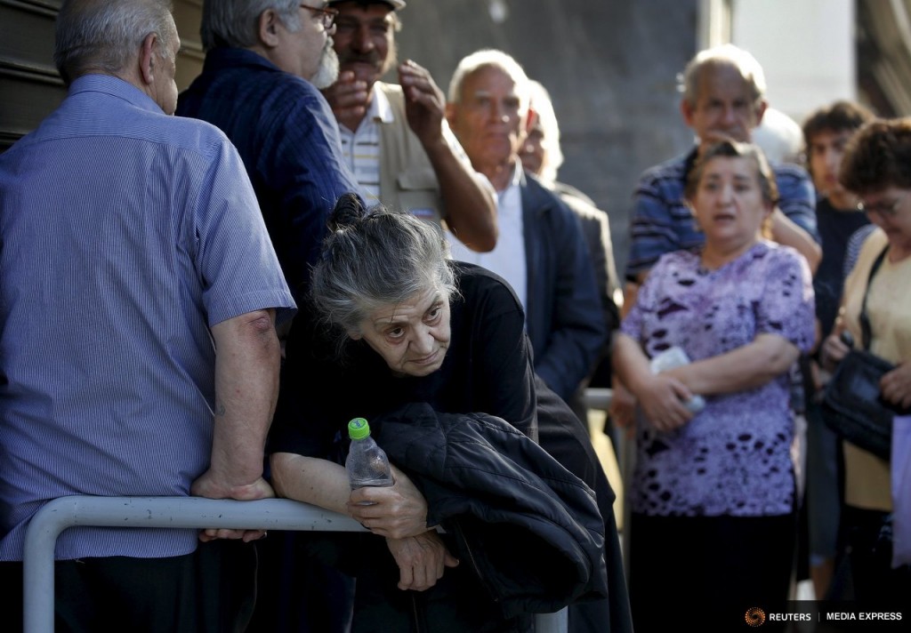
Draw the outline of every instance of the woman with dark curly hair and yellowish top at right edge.
<instances>
[{"instance_id":1,"label":"woman with dark curly hair and yellowish top at right edge","mask_svg":"<svg viewBox=\"0 0 911 633\"><path fill-rule=\"evenodd\" d=\"M864 241L833 332L823 343L830 370L855 347L896 364L880 383L882 397L911 405L911 118L875 120L845 151L839 181L861 199L876 225ZM844 508L841 535L851 562L855 598L896 607L911 596L911 566L892 567L893 495L887 460L844 442ZM892 491L893 494L896 491ZM899 491L909 495L911 491Z\"/></svg>"}]
</instances>

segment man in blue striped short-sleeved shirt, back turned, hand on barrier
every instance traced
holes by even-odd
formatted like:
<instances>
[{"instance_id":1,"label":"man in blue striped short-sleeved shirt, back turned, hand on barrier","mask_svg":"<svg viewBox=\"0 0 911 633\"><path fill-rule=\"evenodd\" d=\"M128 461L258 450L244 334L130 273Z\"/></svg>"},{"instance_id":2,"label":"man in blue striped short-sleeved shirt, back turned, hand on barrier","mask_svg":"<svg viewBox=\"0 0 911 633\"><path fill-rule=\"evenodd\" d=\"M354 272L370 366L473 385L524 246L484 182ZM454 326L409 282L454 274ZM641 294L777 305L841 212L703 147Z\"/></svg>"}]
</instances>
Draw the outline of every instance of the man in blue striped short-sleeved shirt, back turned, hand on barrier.
<instances>
[{"instance_id":1,"label":"man in blue striped short-sleeved shirt, back turned, hand on barrier","mask_svg":"<svg viewBox=\"0 0 911 633\"><path fill-rule=\"evenodd\" d=\"M0 156L0 605L13 628L26 526L47 501L272 495L275 321L295 304L236 149L169 116L178 49L167 0L67 0L67 98ZM233 566L255 553L215 539L259 536L69 529L56 621L234 630L249 604L220 592L252 590L252 568Z\"/></svg>"}]
</instances>

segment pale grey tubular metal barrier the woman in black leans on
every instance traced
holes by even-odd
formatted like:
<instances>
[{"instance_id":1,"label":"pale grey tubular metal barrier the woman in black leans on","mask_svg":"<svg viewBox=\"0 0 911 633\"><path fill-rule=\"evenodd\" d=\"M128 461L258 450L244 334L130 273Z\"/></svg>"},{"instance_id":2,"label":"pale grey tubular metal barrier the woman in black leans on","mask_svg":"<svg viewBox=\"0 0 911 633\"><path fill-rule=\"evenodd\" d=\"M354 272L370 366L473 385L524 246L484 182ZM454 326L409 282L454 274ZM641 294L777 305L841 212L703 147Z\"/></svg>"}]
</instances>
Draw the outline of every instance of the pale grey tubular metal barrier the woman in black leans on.
<instances>
[{"instance_id":1,"label":"pale grey tubular metal barrier the woman in black leans on","mask_svg":"<svg viewBox=\"0 0 911 633\"><path fill-rule=\"evenodd\" d=\"M352 518L291 499L64 496L32 517L23 558L25 633L54 631L54 549L68 527L187 527L359 532ZM567 633L567 610L535 616L536 633Z\"/></svg>"}]
</instances>

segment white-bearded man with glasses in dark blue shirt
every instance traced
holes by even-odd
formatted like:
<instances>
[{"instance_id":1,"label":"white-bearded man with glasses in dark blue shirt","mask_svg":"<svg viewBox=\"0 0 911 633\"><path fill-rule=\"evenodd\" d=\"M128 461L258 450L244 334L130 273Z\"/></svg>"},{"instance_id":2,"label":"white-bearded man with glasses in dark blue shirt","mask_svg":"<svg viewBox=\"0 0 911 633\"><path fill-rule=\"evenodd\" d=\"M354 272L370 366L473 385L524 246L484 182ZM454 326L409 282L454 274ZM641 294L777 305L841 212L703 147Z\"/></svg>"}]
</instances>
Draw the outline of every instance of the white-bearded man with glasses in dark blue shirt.
<instances>
[{"instance_id":1,"label":"white-bearded man with glasses in dark blue shirt","mask_svg":"<svg viewBox=\"0 0 911 633\"><path fill-rule=\"evenodd\" d=\"M360 193L318 89L338 76L336 14L320 0L206 0L205 64L177 107L221 128L240 151L297 298L335 199Z\"/></svg>"}]
</instances>

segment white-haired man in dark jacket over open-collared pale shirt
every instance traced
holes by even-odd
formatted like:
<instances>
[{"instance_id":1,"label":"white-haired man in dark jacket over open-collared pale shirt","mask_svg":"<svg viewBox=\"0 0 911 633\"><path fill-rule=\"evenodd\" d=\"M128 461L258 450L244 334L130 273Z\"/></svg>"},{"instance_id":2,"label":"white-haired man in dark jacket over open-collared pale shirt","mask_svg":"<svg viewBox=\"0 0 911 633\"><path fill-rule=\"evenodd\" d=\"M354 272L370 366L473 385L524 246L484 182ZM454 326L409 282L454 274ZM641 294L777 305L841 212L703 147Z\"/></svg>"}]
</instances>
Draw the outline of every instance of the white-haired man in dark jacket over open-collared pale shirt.
<instances>
[{"instance_id":1,"label":"white-haired man in dark jacket over open-collared pale shirt","mask_svg":"<svg viewBox=\"0 0 911 633\"><path fill-rule=\"evenodd\" d=\"M452 236L450 242L455 259L495 271L517 291L535 371L569 401L599 360L608 328L578 218L518 158L528 97L525 71L505 53L478 51L456 67L447 118L474 168L497 191L500 237L487 253Z\"/></svg>"}]
</instances>

